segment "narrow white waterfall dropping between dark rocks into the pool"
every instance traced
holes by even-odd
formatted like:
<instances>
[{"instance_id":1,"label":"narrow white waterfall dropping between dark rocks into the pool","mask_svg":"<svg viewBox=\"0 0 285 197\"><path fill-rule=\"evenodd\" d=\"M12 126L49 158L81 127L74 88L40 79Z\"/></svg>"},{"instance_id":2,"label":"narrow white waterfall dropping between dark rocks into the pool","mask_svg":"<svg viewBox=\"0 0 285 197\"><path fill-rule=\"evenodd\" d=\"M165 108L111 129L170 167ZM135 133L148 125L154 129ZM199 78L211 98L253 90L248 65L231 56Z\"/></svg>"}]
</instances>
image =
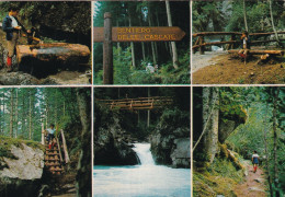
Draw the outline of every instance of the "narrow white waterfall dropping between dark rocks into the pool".
<instances>
[{"instance_id":1,"label":"narrow white waterfall dropping between dark rocks into the pool","mask_svg":"<svg viewBox=\"0 0 285 197\"><path fill-rule=\"evenodd\" d=\"M153 158L150 152L150 143L134 143L133 150L137 153L141 165L155 165Z\"/></svg>"}]
</instances>

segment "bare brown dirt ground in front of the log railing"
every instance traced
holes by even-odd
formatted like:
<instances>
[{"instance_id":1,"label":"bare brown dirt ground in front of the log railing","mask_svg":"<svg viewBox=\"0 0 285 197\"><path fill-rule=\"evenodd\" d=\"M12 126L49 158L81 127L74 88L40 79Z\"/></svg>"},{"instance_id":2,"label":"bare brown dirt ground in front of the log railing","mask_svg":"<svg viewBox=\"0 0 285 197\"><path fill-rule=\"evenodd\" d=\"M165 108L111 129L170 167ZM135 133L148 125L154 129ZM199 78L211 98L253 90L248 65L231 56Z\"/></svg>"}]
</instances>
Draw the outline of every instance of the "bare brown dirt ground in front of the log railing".
<instances>
[{"instance_id":1,"label":"bare brown dirt ground in front of the log railing","mask_svg":"<svg viewBox=\"0 0 285 197\"><path fill-rule=\"evenodd\" d=\"M192 65L203 62L204 67L194 68L193 84L284 84L285 81L284 57L264 65L256 63L259 56L253 56L247 65L229 54L205 59L200 55L196 59L197 62L193 58Z\"/></svg>"}]
</instances>

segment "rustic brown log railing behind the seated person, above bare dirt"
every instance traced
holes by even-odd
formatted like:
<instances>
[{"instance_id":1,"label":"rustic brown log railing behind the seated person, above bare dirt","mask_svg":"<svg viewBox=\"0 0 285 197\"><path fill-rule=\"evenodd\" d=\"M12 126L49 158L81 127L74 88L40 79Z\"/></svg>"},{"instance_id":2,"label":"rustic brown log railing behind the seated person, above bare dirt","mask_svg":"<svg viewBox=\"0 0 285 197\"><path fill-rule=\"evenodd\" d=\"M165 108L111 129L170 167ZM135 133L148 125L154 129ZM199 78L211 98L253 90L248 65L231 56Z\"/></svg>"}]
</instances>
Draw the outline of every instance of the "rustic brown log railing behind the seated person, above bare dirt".
<instances>
[{"instance_id":1,"label":"rustic brown log railing behind the seated person, above bare dirt","mask_svg":"<svg viewBox=\"0 0 285 197\"><path fill-rule=\"evenodd\" d=\"M236 44L239 44L240 40L237 39L237 36L240 36L242 33L240 32L202 32L202 33L195 33L193 34L193 38L197 37L195 40L195 44L193 45L192 49L194 53L196 49L200 50L200 54L203 55L205 54L205 46L212 46L212 45L225 45L229 44L227 46L228 49L233 49ZM269 33L251 33L249 34L250 36L269 36L275 34L274 32L269 32ZM285 34L285 32L277 32L277 34ZM210 42L210 43L205 43L205 36L215 36L215 35L230 35L229 40L223 40L223 42ZM285 39L280 39L280 40L285 40ZM251 40L251 44L260 44L260 43L271 43L271 42L277 42L276 39L264 39L264 40Z\"/></svg>"}]
</instances>

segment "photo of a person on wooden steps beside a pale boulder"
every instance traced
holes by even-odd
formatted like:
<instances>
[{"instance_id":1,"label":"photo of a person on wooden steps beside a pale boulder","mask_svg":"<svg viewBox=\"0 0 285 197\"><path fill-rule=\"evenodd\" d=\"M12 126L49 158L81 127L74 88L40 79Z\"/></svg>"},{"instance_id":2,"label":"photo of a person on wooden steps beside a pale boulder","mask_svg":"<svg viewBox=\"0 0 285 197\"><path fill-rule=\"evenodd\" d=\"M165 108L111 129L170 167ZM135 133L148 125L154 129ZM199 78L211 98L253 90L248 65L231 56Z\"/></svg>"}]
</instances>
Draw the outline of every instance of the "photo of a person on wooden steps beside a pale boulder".
<instances>
[{"instance_id":1,"label":"photo of a person on wooden steps beside a pale boulder","mask_svg":"<svg viewBox=\"0 0 285 197\"><path fill-rule=\"evenodd\" d=\"M0 89L0 196L91 196L91 89Z\"/></svg>"}]
</instances>

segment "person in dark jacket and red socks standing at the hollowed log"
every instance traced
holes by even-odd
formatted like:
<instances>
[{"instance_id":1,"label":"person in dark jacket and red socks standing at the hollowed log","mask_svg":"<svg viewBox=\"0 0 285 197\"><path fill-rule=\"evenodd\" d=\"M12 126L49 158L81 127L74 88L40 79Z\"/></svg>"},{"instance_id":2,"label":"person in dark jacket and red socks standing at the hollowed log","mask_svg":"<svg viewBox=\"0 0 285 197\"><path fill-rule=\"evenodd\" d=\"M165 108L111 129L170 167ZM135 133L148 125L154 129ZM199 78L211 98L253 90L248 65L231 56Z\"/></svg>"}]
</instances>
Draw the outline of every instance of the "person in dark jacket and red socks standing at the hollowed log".
<instances>
[{"instance_id":1,"label":"person in dark jacket and red socks standing at the hollowed log","mask_svg":"<svg viewBox=\"0 0 285 197\"><path fill-rule=\"evenodd\" d=\"M5 39L7 39L7 48L8 48L8 57L7 57L7 71L12 71L12 57L15 55L15 47L18 44L18 39L20 37L21 31L25 32L26 34L31 33L31 31L26 30L18 20L19 8L18 7L10 7L8 9L8 15L4 18L2 23L2 28L5 32Z\"/></svg>"}]
</instances>

